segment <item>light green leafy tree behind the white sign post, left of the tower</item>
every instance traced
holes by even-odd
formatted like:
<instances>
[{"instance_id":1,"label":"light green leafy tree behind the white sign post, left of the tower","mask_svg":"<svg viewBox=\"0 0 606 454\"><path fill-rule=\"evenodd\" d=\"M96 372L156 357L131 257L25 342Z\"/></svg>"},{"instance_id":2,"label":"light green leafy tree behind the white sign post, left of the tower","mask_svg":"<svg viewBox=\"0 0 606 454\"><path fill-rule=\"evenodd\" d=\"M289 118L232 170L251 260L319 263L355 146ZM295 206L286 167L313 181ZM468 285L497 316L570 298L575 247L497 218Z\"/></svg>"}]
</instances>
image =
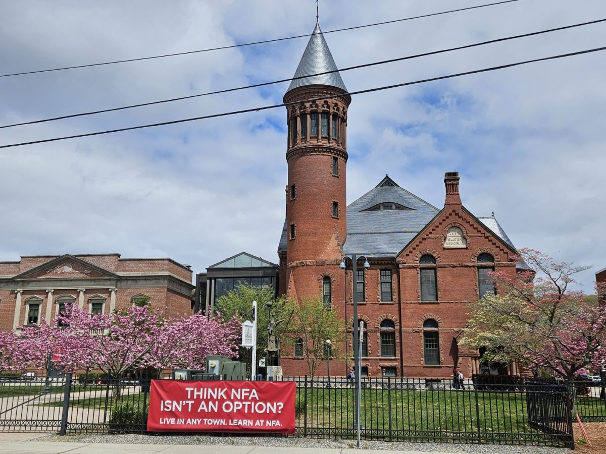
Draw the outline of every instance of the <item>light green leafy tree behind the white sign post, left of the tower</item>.
<instances>
[{"instance_id":1,"label":"light green leafy tree behind the white sign post, left of the tower","mask_svg":"<svg viewBox=\"0 0 606 454\"><path fill-rule=\"evenodd\" d=\"M257 360L264 357L265 349L267 349L267 325L269 321L269 311L267 301L271 301L271 312L274 313L276 321L285 320L276 327L274 334L280 337L284 329L290 312L287 308L284 297L275 297L275 292L271 287L256 287L242 285L238 288L227 292L221 298L218 298L215 305L215 310L220 314L221 318L227 322L232 317L236 316L241 322L245 320L252 321L252 314L244 317L248 311L253 308L253 301L257 302ZM241 340L240 340L241 341ZM248 370L252 364L252 349L240 347L238 350L240 360L247 364Z\"/></svg>"}]
</instances>

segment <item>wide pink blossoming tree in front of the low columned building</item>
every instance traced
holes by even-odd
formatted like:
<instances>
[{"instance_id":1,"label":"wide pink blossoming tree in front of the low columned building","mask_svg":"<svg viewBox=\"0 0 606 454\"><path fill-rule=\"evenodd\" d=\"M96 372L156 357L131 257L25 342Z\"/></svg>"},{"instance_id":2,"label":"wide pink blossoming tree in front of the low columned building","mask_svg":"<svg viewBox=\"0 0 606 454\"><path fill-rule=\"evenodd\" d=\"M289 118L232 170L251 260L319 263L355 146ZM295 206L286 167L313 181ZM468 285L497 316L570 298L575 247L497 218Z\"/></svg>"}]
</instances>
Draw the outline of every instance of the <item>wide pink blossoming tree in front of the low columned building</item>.
<instances>
[{"instance_id":1,"label":"wide pink blossoming tree in front of the low columned building","mask_svg":"<svg viewBox=\"0 0 606 454\"><path fill-rule=\"evenodd\" d=\"M32 366L44 367L52 354L65 370L98 369L120 378L148 367L201 368L208 355L237 357L240 330L236 318L223 322L195 314L167 320L148 304L112 315L92 315L68 305L52 326L24 328L21 344Z\"/></svg>"}]
</instances>

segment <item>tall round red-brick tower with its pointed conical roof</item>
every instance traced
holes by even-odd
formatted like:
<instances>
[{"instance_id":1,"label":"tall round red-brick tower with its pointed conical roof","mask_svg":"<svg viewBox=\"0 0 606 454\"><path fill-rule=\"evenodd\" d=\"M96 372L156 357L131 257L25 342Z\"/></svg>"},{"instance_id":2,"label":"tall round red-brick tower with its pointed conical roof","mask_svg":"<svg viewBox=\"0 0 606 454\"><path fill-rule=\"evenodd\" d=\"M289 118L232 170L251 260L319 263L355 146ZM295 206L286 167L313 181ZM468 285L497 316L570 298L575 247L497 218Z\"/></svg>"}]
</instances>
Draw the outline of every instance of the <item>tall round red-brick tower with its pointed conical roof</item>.
<instances>
[{"instance_id":1,"label":"tall round red-brick tower with its pointed conical roof","mask_svg":"<svg viewBox=\"0 0 606 454\"><path fill-rule=\"evenodd\" d=\"M286 194L286 254L283 275L296 297L324 291L331 277L331 300L347 234L345 164L347 108L351 97L338 72L318 24L284 95L287 104L288 186ZM330 97L344 94L344 96ZM281 260L282 262L282 260ZM341 273L339 273L341 276ZM293 288L295 286L295 288ZM341 290L342 292L342 290Z\"/></svg>"}]
</instances>

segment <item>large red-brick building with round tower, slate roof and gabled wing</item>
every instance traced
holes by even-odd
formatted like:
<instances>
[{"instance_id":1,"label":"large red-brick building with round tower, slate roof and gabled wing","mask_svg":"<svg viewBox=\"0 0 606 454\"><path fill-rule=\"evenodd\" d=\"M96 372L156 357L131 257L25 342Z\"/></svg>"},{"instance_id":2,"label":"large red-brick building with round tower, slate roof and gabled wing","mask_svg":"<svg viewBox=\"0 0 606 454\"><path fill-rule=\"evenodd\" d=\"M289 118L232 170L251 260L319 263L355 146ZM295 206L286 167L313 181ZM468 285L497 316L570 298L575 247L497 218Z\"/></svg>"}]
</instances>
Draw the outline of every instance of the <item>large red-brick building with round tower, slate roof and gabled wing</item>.
<instances>
[{"instance_id":1,"label":"large red-brick building with round tower, slate roof and gabled wing","mask_svg":"<svg viewBox=\"0 0 606 454\"><path fill-rule=\"evenodd\" d=\"M338 72L304 77L336 69L316 24L295 73L303 78L293 80L284 96L288 185L278 247L281 292L322 295L351 333L355 279L365 324L362 375L451 377L454 367L466 377L517 373L514 364L482 364L481 352L458 342L468 305L493 291L487 273L524 267L514 262L513 243L494 215L476 217L465 209L457 172L445 174L444 208L388 176L347 206L351 97ZM356 276L340 269L344 255L352 254L364 255L370 269L362 262ZM351 354L351 335L347 345L335 348ZM282 352L285 374L308 373L297 350ZM345 373L344 363L332 366L338 375Z\"/></svg>"}]
</instances>

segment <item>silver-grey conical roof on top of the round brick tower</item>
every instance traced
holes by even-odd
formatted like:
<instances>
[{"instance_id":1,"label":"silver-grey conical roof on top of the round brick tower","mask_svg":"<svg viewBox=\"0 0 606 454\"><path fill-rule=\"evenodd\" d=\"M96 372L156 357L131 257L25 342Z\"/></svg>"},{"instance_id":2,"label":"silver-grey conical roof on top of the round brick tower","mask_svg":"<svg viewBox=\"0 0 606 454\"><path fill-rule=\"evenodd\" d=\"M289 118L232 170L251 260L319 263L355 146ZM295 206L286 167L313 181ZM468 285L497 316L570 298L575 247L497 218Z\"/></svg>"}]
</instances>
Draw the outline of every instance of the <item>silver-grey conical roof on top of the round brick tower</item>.
<instances>
[{"instance_id":1,"label":"silver-grey conical roof on top of the round brick tower","mask_svg":"<svg viewBox=\"0 0 606 454\"><path fill-rule=\"evenodd\" d=\"M316 24L316 28L313 30L307 47L301 57L299 66L295 71L295 77L308 76L309 74L323 73L324 71L335 71L337 65L333 59L328 44L324 40L320 25ZM295 79L290 82L287 93L293 88L305 87L306 85L328 85L330 87L341 88L343 91L347 91L341 74L330 73L322 74L321 76L304 77L303 79Z\"/></svg>"}]
</instances>

